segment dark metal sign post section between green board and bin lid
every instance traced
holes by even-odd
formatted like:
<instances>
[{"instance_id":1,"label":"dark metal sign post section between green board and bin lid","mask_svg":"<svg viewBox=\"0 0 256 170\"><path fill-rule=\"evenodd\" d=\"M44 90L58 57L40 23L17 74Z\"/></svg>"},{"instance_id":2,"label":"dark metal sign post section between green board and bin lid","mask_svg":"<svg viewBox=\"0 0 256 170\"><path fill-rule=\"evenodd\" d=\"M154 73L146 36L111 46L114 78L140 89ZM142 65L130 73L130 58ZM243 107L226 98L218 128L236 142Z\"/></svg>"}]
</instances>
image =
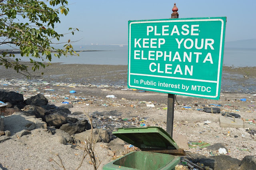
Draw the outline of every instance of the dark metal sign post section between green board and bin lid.
<instances>
[{"instance_id":1,"label":"dark metal sign post section between green board and bin lid","mask_svg":"<svg viewBox=\"0 0 256 170\"><path fill-rule=\"evenodd\" d=\"M174 119L174 94L168 94L166 132L172 137Z\"/></svg>"}]
</instances>

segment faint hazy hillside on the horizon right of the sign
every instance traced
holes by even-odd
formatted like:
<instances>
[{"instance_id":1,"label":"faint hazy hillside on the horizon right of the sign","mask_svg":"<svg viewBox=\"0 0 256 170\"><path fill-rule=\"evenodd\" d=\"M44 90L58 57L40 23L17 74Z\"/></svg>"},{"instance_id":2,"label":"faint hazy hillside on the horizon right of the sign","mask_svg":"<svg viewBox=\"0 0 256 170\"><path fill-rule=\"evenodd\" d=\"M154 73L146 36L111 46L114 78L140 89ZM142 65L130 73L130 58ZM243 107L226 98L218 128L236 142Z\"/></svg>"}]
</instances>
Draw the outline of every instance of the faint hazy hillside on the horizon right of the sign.
<instances>
[{"instance_id":1,"label":"faint hazy hillside on the horizon right of the sign","mask_svg":"<svg viewBox=\"0 0 256 170\"><path fill-rule=\"evenodd\" d=\"M254 49L256 49L256 39L225 42L225 47L226 48L254 48Z\"/></svg>"}]
</instances>

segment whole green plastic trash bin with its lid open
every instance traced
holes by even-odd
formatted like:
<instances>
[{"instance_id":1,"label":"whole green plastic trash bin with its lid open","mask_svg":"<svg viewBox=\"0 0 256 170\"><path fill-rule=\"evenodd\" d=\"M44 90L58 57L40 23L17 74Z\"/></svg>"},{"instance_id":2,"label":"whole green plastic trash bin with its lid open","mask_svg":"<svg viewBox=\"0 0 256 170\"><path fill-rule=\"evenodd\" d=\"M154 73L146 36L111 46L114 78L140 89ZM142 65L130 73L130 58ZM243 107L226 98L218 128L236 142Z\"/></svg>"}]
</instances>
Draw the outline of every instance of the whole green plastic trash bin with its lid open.
<instances>
[{"instance_id":1,"label":"whole green plastic trash bin with its lid open","mask_svg":"<svg viewBox=\"0 0 256 170\"><path fill-rule=\"evenodd\" d=\"M130 152L104 165L103 170L174 170L180 163L179 156L155 152L179 149L171 136L160 127L118 128L113 134L142 151Z\"/></svg>"}]
</instances>

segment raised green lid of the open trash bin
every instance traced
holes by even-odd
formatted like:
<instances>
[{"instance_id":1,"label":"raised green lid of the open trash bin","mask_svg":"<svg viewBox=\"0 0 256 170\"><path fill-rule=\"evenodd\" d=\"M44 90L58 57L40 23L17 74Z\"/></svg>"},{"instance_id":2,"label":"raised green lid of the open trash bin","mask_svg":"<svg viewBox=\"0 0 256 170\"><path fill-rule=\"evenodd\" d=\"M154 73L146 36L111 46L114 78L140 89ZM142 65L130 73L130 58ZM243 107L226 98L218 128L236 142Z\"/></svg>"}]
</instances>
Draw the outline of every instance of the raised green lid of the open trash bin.
<instances>
[{"instance_id":1,"label":"raised green lid of the open trash bin","mask_svg":"<svg viewBox=\"0 0 256 170\"><path fill-rule=\"evenodd\" d=\"M117 128L112 134L140 149L179 149L172 137L160 127Z\"/></svg>"}]
</instances>

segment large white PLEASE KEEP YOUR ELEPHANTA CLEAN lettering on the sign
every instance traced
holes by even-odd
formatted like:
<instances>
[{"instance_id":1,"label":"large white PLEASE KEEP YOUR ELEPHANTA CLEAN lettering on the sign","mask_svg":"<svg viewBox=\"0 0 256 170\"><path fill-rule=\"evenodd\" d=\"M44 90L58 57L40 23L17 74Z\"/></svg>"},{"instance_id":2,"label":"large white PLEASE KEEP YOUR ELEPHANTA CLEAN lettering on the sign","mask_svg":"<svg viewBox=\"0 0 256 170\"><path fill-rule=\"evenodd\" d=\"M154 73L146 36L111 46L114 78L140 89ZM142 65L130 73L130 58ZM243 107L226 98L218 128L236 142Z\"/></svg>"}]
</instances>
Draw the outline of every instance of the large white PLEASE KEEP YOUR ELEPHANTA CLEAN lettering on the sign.
<instances>
[{"instance_id":1,"label":"large white PLEASE KEEP YOUR ELEPHANTA CLEAN lettering on the sign","mask_svg":"<svg viewBox=\"0 0 256 170\"><path fill-rule=\"evenodd\" d=\"M199 36L200 25L182 26L169 25L147 26L146 35L148 38L134 38L134 60L151 60L148 69L151 72L193 75L193 63L214 64L211 51L214 50L214 40L211 38L194 38ZM193 38L175 38L176 51L162 51L161 48L166 43L166 38L170 36L192 36ZM161 38L156 38L160 36ZM166 38L163 38L166 36ZM150 38L154 37L154 38ZM164 46L165 47L165 46ZM146 50L150 48L151 50ZM152 50L152 49L156 50ZM165 48L166 49L166 48ZM173 49L173 47L171 47ZM189 52L180 52L179 49L190 49ZM182 51L182 50L181 50ZM179 63L185 64L179 64Z\"/></svg>"}]
</instances>

